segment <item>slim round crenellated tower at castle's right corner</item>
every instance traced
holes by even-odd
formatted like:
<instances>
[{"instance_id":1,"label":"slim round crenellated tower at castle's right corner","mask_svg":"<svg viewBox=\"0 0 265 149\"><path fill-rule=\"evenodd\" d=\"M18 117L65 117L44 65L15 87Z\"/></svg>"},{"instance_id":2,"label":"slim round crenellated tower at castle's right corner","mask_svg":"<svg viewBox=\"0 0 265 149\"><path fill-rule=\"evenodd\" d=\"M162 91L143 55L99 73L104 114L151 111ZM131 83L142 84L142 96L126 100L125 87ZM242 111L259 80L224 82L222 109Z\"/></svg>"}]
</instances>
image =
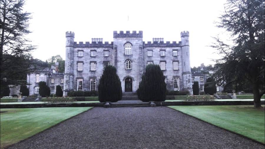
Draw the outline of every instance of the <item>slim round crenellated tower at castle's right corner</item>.
<instances>
[{"instance_id":1,"label":"slim round crenellated tower at castle's right corner","mask_svg":"<svg viewBox=\"0 0 265 149\"><path fill-rule=\"evenodd\" d=\"M182 67L183 67L183 89L192 92L192 82L191 82L191 64L190 64L190 42L189 42L189 32L183 31L180 33L181 37L181 51L182 51Z\"/></svg>"}]
</instances>

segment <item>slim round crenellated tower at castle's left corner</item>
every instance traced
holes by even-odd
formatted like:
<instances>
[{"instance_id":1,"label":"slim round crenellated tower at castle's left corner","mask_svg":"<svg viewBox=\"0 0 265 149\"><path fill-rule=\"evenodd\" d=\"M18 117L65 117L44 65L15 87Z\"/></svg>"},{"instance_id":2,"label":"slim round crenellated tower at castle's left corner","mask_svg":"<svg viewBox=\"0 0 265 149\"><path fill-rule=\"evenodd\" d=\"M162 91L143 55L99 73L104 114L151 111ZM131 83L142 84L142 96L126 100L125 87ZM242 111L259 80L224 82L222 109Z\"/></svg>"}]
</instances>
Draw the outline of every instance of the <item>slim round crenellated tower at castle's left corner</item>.
<instances>
[{"instance_id":1,"label":"slim round crenellated tower at castle's left corner","mask_svg":"<svg viewBox=\"0 0 265 149\"><path fill-rule=\"evenodd\" d=\"M74 32L66 32L64 91L73 90ZM65 92L64 92L65 93Z\"/></svg>"}]
</instances>

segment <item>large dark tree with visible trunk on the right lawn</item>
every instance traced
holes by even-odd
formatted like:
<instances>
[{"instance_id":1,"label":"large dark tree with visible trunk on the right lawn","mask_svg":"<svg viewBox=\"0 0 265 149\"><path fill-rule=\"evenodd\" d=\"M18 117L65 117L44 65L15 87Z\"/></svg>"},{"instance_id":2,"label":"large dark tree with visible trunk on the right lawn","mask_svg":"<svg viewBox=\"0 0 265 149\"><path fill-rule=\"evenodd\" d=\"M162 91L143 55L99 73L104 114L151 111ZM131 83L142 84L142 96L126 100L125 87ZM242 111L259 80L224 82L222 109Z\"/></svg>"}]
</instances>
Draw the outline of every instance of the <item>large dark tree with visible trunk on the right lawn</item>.
<instances>
[{"instance_id":1,"label":"large dark tree with visible trunk on the right lawn","mask_svg":"<svg viewBox=\"0 0 265 149\"><path fill-rule=\"evenodd\" d=\"M228 0L217 27L226 29L234 45L215 37L216 48L223 57L216 60L213 70L218 86L252 85L254 107L261 107L264 95L265 38L264 0Z\"/></svg>"}]
</instances>

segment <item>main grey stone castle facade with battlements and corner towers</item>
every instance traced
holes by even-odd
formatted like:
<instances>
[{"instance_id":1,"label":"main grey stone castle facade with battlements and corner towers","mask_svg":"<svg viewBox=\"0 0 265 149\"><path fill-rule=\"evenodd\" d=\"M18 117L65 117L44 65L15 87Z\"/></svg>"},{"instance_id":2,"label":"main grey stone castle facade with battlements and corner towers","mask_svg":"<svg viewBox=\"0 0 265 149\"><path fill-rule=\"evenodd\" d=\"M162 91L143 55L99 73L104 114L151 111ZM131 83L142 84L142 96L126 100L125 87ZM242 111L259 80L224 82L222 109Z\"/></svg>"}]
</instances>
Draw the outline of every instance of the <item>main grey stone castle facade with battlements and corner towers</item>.
<instances>
[{"instance_id":1,"label":"main grey stone castle facade with battlements and corner towers","mask_svg":"<svg viewBox=\"0 0 265 149\"><path fill-rule=\"evenodd\" d=\"M181 32L178 43L153 38L143 42L143 31L113 32L113 42L92 38L74 42L74 32L66 32L64 92L97 90L107 65L120 77L122 92L136 92L148 64L159 64L168 90L189 90L192 95L189 32Z\"/></svg>"}]
</instances>

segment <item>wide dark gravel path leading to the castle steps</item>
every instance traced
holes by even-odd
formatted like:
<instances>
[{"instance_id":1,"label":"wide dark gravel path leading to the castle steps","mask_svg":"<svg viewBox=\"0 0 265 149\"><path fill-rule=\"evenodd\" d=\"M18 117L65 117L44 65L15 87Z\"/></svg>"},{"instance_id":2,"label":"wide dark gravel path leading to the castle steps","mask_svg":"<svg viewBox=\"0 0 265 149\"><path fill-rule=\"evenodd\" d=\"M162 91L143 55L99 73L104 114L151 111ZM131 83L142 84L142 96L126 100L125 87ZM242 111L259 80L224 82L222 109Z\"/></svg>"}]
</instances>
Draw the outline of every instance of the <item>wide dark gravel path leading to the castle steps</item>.
<instances>
[{"instance_id":1,"label":"wide dark gravel path leading to the castle steps","mask_svg":"<svg viewBox=\"0 0 265 149\"><path fill-rule=\"evenodd\" d=\"M175 149L265 145L168 107L94 107L9 148Z\"/></svg>"}]
</instances>

